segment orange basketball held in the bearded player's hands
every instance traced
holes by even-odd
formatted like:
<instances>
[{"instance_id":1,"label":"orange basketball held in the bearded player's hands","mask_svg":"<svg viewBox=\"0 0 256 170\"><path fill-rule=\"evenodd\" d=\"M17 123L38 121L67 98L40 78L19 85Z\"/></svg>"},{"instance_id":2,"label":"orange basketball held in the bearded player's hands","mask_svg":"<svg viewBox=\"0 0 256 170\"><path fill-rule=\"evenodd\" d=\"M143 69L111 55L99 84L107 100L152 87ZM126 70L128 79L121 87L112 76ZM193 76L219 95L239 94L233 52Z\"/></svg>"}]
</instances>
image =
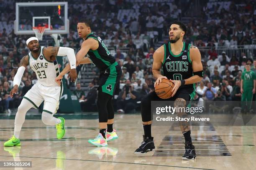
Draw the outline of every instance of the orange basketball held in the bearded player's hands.
<instances>
[{"instance_id":1,"label":"orange basketball held in the bearded player's hands","mask_svg":"<svg viewBox=\"0 0 256 170\"><path fill-rule=\"evenodd\" d=\"M159 85L156 84L155 92L158 97L161 99L169 99L172 96L172 88L174 87L174 83L162 79L162 82L159 82Z\"/></svg>"}]
</instances>

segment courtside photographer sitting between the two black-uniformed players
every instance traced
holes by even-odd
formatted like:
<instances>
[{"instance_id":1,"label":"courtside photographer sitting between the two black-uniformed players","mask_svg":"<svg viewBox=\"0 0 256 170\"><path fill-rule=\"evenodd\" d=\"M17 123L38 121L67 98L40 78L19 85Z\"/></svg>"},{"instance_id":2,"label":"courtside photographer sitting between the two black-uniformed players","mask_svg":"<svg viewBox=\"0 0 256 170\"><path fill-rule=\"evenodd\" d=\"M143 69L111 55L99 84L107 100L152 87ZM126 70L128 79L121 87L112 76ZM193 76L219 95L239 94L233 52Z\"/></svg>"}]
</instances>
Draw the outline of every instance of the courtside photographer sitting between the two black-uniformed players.
<instances>
[{"instance_id":1,"label":"courtside photographer sitting between the two black-uniformed players","mask_svg":"<svg viewBox=\"0 0 256 170\"><path fill-rule=\"evenodd\" d=\"M119 93L117 108L119 113L135 112L138 93L134 90L130 81L126 81L123 90Z\"/></svg>"}]
</instances>

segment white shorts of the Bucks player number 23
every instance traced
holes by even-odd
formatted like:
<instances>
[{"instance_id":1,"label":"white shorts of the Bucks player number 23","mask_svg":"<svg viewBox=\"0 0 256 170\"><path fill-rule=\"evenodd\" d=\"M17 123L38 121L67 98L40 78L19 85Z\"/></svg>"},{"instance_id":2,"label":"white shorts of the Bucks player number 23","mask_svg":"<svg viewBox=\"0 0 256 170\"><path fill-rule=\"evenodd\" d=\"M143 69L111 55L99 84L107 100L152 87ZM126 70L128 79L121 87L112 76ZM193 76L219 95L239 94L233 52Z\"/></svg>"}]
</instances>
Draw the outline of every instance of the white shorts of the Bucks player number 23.
<instances>
[{"instance_id":1,"label":"white shorts of the Bucks player number 23","mask_svg":"<svg viewBox=\"0 0 256 170\"><path fill-rule=\"evenodd\" d=\"M59 109L59 101L62 92L62 83L61 86L46 87L37 82L30 90L28 90L23 98L30 101L36 109L38 109L44 101L43 111L54 114Z\"/></svg>"}]
</instances>

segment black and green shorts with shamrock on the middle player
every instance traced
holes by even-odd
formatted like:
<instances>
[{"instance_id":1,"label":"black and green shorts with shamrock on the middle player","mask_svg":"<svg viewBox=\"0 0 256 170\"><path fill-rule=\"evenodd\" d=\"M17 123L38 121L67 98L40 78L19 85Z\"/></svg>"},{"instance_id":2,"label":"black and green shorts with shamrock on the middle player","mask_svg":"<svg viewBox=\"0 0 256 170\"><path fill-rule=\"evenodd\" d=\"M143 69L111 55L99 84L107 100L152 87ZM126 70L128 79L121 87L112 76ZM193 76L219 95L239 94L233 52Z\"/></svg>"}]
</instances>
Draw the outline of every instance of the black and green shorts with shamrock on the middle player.
<instances>
[{"instance_id":1,"label":"black and green shorts with shamrock on the middle player","mask_svg":"<svg viewBox=\"0 0 256 170\"><path fill-rule=\"evenodd\" d=\"M120 90L120 78L122 69L117 62L114 62L106 70L100 72L100 85L98 90L109 95L118 95Z\"/></svg>"}]
</instances>

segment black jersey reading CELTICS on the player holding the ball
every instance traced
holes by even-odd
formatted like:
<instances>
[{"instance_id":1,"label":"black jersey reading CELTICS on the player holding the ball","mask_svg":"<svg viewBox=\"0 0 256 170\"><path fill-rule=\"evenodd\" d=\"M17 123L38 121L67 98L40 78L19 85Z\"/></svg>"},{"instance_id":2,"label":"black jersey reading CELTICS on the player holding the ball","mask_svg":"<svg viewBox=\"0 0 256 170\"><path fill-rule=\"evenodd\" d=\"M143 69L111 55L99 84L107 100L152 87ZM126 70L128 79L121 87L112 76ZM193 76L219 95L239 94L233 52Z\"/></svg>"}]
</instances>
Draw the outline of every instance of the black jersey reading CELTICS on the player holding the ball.
<instances>
[{"instance_id":1,"label":"black jersey reading CELTICS on the player holding the ball","mask_svg":"<svg viewBox=\"0 0 256 170\"><path fill-rule=\"evenodd\" d=\"M184 80L193 76L192 62L189 56L190 44L183 42L183 49L179 55L174 55L171 42L164 44L164 61L162 63L164 76L171 80ZM184 85L189 91L195 90L195 84Z\"/></svg>"}]
</instances>

